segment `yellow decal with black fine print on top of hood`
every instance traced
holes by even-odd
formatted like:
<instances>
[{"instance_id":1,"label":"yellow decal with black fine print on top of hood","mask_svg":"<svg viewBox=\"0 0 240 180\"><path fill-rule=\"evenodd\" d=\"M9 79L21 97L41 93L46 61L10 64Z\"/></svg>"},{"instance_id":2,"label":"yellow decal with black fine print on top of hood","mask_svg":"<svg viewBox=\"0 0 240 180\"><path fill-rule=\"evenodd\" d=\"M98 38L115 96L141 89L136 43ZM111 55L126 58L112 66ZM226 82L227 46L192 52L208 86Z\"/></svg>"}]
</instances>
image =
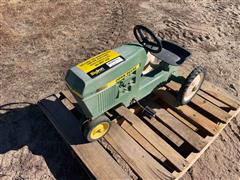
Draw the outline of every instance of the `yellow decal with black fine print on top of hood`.
<instances>
[{"instance_id":1,"label":"yellow decal with black fine print on top of hood","mask_svg":"<svg viewBox=\"0 0 240 180\"><path fill-rule=\"evenodd\" d=\"M113 50L107 50L107 51L104 51L82 63L79 63L78 65L76 65L76 67L78 67L85 73L88 73L119 56L120 56L119 53L117 53Z\"/></svg>"}]
</instances>

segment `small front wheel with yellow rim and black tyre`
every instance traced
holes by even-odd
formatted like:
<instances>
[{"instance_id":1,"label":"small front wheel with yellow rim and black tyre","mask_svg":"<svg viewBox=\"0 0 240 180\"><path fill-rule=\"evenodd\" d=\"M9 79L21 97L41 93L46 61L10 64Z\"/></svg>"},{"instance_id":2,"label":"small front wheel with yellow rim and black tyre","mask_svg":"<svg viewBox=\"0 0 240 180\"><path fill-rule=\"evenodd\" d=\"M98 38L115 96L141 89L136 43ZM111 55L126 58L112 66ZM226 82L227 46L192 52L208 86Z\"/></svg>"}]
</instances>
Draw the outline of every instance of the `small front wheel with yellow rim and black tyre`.
<instances>
[{"instance_id":1,"label":"small front wheel with yellow rim and black tyre","mask_svg":"<svg viewBox=\"0 0 240 180\"><path fill-rule=\"evenodd\" d=\"M102 138L109 131L111 121L105 115L101 115L83 125L84 138L89 141L96 141Z\"/></svg>"}]
</instances>

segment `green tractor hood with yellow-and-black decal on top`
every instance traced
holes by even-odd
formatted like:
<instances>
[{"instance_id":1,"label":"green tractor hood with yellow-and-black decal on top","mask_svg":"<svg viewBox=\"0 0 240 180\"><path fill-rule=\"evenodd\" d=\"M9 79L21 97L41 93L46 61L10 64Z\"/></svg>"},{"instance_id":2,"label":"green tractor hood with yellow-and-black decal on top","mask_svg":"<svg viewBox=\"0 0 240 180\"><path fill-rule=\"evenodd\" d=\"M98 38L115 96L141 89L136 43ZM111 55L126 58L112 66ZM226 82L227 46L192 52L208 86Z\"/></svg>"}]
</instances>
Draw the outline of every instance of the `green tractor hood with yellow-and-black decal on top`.
<instances>
[{"instance_id":1,"label":"green tractor hood with yellow-and-black decal on top","mask_svg":"<svg viewBox=\"0 0 240 180\"><path fill-rule=\"evenodd\" d=\"M141 45L126 44L77 64L68 70L65 80L74 95L85 98L142 70L145 61L146 51Z\"/></svg>"}]
</instances>

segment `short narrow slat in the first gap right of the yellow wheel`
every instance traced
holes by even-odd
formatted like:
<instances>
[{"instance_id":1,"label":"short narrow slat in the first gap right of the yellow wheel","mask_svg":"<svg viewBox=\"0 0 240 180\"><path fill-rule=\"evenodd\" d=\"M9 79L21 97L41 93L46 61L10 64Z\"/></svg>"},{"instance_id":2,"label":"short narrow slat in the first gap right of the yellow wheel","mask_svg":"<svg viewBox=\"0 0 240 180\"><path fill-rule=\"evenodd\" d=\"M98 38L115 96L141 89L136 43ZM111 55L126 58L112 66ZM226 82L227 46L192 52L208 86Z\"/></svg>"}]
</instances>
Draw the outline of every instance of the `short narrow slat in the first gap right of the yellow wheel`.
<instances>
[{"instance_id":1,"label":"short narrow slat in the first gap right of the yellow wheel","mask_svg":"<svg viewBox=\"0 0 240 180\"><path fill-rule=\"evenodd\" d=\"M166 161L166 158L150 144L144 136L142 136L136 129L134 129L126 120L120 125L135 141L137 141L147 152L152 156L160 160L161 162Z\"/></svg>"}]
</instances>

